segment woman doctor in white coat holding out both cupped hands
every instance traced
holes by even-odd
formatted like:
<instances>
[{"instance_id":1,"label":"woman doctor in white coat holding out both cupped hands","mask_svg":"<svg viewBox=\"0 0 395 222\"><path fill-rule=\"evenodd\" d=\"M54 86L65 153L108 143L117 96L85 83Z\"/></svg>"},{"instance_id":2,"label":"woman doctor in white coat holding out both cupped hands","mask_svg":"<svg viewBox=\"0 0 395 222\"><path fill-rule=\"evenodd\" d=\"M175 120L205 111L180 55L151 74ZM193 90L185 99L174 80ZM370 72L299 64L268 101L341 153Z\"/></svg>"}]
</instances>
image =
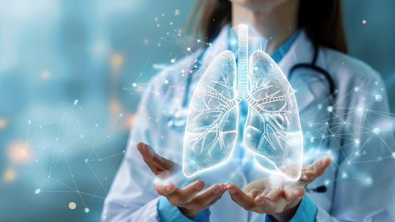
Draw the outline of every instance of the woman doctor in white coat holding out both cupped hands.
<instances>
[{"instance_id":1,"label":"woman doctor in white coat holding out both cupped hands","mask_svg":"<svg viewBox=\"0 0 395 222\"><path fill-rule=\"evenodd\" d=\"M213 45L149 82L101 220L395 221L390 192L395 161L383 158L394 151L392 132L377 130L383 115L363 111L388 112L387 97L379 75L346 55L340 1L201 0L196 10L197 24ZM249 23L267 41L265 51L296 90L307 164L298 182L273 186L241 140L227 164L199 179L180 176L183 101L188 104L204 67L218 53L236 53L230 26L240 23ZM202 71L175 71L196 60ZM243 119L246 108L240 106Z\"/></svg>"}]
</instances>

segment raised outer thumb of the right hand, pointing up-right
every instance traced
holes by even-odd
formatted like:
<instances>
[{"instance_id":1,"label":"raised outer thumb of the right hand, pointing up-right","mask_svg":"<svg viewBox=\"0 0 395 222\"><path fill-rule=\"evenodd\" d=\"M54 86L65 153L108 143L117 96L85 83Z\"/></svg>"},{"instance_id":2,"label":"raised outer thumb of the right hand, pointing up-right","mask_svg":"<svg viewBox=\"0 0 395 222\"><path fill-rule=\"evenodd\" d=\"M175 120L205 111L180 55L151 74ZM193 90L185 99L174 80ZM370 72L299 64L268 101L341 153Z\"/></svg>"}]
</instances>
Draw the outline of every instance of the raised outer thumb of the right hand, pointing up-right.
<instances>
[{"instance_id":1,"label":"raised outer thumb of the right hand, pointing up-right","mask_svg":"<svg viewBox=\"0 0 395 222\"><path fill-rule=\"evenodd\" d=\"M332 158L327 156L324 158L320 158L318 160L315 160L312 164L308 165L307 167L304 167L302 169L302 175L300 176L300 184L309 184L315 180L315 178L320 177L326 170L326 168L329 167L329 165L332 162Z\"/></svg>"}]
</instances>

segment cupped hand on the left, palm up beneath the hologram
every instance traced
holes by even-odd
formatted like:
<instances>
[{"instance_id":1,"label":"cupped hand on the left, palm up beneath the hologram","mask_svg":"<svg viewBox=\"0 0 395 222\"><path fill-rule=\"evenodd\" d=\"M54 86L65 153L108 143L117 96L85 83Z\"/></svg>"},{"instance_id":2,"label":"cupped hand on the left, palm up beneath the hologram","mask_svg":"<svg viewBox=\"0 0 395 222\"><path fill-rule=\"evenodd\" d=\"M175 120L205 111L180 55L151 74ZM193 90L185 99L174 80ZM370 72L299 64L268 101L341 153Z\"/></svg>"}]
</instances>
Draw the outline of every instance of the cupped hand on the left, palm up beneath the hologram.
<instances>
[{"instance_id":1,"label":"cupped hand on the left, palm up beneath the hologram","mask_svg":"<svg viewBox=\"0 0 395 222\"><path fill-rule=\"evenodd\" d=\"M178 206L182 214L190 219L215 204L226 191L225 184L213 184L202 191L205 186L202 180L195 180L183 188L178 188L172 176L180 173L180 165L159 156L145 143L137 143L136 147L143 156L144 162L156 175L154 181L156 193L166 197L171 205Z\"/></svg>"}]
</instances>

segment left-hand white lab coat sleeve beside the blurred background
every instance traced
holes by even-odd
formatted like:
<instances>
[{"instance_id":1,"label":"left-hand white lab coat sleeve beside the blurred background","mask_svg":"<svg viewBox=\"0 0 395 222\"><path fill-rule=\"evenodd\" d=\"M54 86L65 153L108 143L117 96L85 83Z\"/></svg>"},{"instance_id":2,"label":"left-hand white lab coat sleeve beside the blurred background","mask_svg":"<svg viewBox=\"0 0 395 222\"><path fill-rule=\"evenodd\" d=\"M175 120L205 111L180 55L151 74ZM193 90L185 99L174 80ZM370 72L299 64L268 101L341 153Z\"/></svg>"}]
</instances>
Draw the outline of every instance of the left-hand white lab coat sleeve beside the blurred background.
<instances>
[{"instance_id":1,"label":"left-hand white lab coat sleeve beside the blurred background","mask_svg":"<svg viewBox=\"0 0 395 222\"><path fill-rule=\"evenodd\" d=\"M154 192L154 174L143 162L136 143L152 145L158 130L152 129L152 119L160 103L154 82L147 86L134 117L128 148L121 167L104 201L101 221L158 221L158 195Z\"/></svg>"}]
</instances>

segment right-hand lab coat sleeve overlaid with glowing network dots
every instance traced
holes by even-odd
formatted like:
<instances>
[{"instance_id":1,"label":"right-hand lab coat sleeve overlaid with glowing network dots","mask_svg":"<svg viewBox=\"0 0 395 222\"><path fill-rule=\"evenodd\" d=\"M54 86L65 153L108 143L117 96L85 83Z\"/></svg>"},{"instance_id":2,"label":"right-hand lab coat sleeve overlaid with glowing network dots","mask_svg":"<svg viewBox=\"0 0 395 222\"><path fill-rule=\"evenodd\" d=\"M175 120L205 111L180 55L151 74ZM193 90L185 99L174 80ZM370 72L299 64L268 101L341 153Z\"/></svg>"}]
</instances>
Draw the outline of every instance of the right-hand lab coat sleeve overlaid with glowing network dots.
<instances>
[{"instance_id":1,"label":"right-hand lab coat sleeve overlaid with glowing network dots","mask_svg":"<svg viewBox=\"0 0 395 222\"><path fill-rule=\"evenodd\" d=\"M330 214L339 221L395 221L394 197L389 195L395 176L391 158L395 143L385 85L372 70L355 82L359 90L346 95L347 102L339 107L344 113L335 116L344 122L336 129L341 150L335 157L339 167ZM330 221L331 216L318 208L317 220Z\"/></svg>"}]
</instances>

